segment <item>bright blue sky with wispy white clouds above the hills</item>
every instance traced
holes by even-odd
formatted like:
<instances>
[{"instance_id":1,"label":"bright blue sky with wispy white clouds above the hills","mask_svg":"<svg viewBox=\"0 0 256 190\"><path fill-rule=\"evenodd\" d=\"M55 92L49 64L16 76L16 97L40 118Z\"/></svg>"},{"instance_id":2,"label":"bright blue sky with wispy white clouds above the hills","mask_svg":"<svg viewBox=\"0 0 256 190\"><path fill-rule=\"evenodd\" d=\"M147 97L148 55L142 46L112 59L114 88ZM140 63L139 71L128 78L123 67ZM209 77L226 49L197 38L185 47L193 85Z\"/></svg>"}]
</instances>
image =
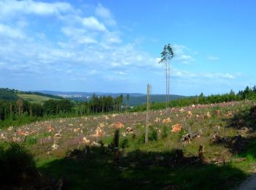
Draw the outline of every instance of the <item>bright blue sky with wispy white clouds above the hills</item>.
<instances>
[{"instance_id":1,"label":"bright blue sky with wispy white clouds above the hills","mask_svg":"<svg viewBox=\"0 0 256 190\"><path fill-rule=\"evenodd\" d=\"M0 87L222 94L254 86L256 1L0 0Z\"/></svg>"}]
</instances>

